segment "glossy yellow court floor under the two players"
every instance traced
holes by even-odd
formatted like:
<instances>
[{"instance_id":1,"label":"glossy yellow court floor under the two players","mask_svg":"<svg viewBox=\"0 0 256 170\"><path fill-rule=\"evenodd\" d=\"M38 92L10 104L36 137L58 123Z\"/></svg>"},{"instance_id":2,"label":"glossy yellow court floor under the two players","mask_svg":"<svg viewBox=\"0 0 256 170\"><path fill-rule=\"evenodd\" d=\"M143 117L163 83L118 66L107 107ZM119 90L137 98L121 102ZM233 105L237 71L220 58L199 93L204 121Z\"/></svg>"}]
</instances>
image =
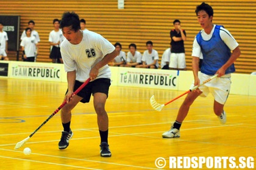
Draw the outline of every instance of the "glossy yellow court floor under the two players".
<instances>
[{"instance_id":1,"label":"glossy yellow court floor under the two players","mask_svg":"<svg viewBox=\"0 0 256 170\"><path fill-rule=\"evenodd\" d=\"M158 169L155 163L158 166L166 163L163 169L170 169L169 157L232 157L236 159L232 166L245 165L244 169L255 164L255 96L229 95L224 107L225 125L213 114L212 95L197 98L182 124L181 137L166 139L162 133L175 121L184 97L161 112L152 109L149 98L155 95L158 103L166 103L183 92L136 87L110 87L106 110L112 157L99 155L100 138L92 100L79 103L73 110L74 136L64 151L58 149L63 130L60 113L44 124L25 146L13 149L62 104L65 91L66 83L0 79L0 169ZM32 154L23 154L26 147ZM166 162L159 161L159 157ZM241 163L240 157L246 160ZM224 169L223 162L219 169ZM201 169L207 166L210 165L203 164ZM229 166L228 161L226 169Z\"/></svg>"}]
</instances>

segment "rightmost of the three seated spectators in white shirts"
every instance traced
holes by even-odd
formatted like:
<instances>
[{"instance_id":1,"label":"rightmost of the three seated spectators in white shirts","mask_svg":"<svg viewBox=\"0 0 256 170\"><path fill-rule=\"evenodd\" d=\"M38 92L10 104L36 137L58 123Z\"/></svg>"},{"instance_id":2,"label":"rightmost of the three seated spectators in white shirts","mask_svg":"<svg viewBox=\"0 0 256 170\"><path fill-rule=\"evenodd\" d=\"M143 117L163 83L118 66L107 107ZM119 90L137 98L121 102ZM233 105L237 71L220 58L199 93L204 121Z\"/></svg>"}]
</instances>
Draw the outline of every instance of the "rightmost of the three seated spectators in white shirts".
<instances>
[{"instance_id":1,"label":"rightmost of the three seated spectators in white shirts","mask_svg":"<svg viewBox=\"0 0 256 170\"><path fill-rule=\"evenodd\" d=\"M145 50L142 56L143 64L137 65L137 68L148 68L148 69L158 69L158 52L153 49L153 42L147 41L146 47L148 50Z\"/></svg>"}]
</instances>

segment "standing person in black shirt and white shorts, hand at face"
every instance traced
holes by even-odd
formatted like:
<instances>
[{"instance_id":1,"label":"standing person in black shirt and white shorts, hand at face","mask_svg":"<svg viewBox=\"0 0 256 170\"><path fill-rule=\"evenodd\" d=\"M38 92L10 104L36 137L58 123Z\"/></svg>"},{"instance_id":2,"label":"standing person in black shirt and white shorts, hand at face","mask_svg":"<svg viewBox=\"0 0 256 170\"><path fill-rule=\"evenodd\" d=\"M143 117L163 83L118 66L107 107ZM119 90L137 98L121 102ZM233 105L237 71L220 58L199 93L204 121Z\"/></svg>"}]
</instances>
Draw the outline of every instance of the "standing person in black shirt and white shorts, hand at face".
<instances>
[{"instance_id":1,"label":"standing person in black shirt and white shorts, hand at face","mask_svg":"<svg viewBox=\"0 0 256 170\"><path fill-rule=\"evenodd\" d=\"M187 39L185 30L182 30L179 19L173 21L174 29L171 30L171 58L169 69L185 70L185 47L184 41Z\"/></svg>"}]
</instances>

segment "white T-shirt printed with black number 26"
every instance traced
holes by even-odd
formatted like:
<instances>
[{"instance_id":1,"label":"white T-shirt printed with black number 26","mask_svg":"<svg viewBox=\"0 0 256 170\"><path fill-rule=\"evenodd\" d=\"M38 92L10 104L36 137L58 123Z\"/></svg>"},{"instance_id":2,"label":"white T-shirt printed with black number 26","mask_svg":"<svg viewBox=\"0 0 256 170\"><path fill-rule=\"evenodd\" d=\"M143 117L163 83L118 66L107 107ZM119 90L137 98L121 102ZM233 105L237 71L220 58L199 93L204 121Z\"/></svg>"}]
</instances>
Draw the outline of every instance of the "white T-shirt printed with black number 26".
<instances>
[{"instance_id":1,"label":"white T-shirt printed with black number 26","mask_svg":"<svg viewBox=\"0 0 256 170\"><path fill-rule=\"evenodd\" d=\"M83 32L83 39L79 44L71 44L64 39L60 46L64 69L66 72L76 70L76 80L84 82L89 78L90 70L115 47L103 36L91 31ZM97 78L110 78L110 68L106 64L99 69Z\"/></svg>"}]
</instances>

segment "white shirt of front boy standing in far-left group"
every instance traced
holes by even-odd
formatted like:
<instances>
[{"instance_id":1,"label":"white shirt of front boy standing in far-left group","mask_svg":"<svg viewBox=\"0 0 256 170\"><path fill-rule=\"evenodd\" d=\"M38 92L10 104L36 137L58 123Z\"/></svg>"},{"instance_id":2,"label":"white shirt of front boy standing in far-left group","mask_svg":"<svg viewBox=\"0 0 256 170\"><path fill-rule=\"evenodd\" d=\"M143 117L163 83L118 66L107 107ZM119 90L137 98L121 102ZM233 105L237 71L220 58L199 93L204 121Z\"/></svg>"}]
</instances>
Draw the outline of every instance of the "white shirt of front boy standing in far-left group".
<instances>
[{"instance_id":1,"label":"white shirt of front boy standing in far-left group","mask_svg":"<svg viewBox=\"0 0 256 170\"><path fill-rule=\"evenodd\" d=\"M27 37L25 36L21 40L21 46L25 49L25 54L27 57L35 56L35 53L37 52L37 47L35 46L37 44L37 39L35 39L35 36Z\"/></svg>"}]
</instances>

